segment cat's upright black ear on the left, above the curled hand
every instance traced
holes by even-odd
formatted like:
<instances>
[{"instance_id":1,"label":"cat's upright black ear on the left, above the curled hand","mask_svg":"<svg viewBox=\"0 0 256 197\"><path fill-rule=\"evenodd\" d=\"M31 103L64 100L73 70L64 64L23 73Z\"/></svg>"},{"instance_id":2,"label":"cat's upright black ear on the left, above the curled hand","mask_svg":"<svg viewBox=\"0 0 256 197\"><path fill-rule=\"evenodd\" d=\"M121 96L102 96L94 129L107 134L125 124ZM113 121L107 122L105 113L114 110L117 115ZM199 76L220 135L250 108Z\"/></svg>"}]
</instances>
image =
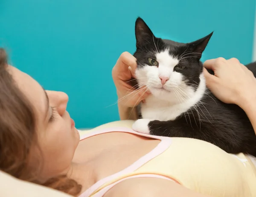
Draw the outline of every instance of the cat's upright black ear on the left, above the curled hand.
<instances>
[{"instance_id":1,"label":"cat's upright black ear on the left, above the curled hand","mask_svg":"<svg viewBox=\"0 0 256 197\"><path fill-rule=\"evenodd\" d=\"M151 43L155 39L152 31L149 29L145 21L140 17L138 17L135 22L135 36L137 48L140 48L147 43Z\"/></svg>"}]
</instances>

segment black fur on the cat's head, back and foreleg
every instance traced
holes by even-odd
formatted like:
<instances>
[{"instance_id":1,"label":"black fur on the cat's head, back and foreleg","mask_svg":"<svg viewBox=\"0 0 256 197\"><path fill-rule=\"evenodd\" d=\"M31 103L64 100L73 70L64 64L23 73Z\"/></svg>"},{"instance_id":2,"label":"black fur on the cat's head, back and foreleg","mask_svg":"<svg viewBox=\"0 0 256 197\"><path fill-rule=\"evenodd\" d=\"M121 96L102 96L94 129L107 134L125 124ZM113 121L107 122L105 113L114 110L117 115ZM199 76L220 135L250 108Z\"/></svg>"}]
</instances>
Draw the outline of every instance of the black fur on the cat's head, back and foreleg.
<instances>
[{"instance_id":1,"label":"black fur on the cat's head, back and foreleg","mask_svg":"<svg viewBox=\"0 0 256 197\"><path fill-rule=\"evenodd\" d=\"M199 75L203 65L200 61L209 39L206 37L192 43L177 43L169 40L156 38L146 23L138 18L136 21L136 46L134 53L137 58L138 69L143 67L148 58L155 58L151 52L158 49L170 48L169 52L180 56L185 51L197 52L198 54L183 59L179 64L186 66L181 70L188 79L188 85L195 89L200 82ZM187 54L187 53L185 53ZM256 75L256 63L247 65ZM212 71L210 71L212 73ZM149 122L150 134L169 137L188 137L210 142L228 153L237 154L243 152L256 156L256 135L246 113L235 104L225 104L218 100L210 91L208 95L198 103L198 111L191 107L187 112L177 117L174 121L151 121ZM199 121L201 119L201 121Z\"/></svg>"}]
</instances>

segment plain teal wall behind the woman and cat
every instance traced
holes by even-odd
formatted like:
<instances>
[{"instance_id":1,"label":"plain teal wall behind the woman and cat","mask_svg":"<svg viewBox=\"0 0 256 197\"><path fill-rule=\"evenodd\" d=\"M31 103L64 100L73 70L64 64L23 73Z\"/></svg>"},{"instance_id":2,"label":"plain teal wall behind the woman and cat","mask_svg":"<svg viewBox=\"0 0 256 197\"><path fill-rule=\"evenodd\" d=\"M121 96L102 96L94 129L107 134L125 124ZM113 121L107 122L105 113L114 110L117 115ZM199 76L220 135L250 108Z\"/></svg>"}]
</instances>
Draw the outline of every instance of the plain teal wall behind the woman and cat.
<instances>
[{"instance_id":1,"label":"plain teal wall behind the woman and cat","mask_svg":"<svg viewBox=\"0 0 256 197\"><path fill-rule=\"evenodd\" d=\"M138 1L138 3L136 3ZM158 2L158 3L156 3ZM77 127L118 120L111 69L135 50L142 17L157 36L189 42L215 31L203 60L252 59L255 0L0 0L11 63L69 97Z\"/></svg>"}]
</instances>

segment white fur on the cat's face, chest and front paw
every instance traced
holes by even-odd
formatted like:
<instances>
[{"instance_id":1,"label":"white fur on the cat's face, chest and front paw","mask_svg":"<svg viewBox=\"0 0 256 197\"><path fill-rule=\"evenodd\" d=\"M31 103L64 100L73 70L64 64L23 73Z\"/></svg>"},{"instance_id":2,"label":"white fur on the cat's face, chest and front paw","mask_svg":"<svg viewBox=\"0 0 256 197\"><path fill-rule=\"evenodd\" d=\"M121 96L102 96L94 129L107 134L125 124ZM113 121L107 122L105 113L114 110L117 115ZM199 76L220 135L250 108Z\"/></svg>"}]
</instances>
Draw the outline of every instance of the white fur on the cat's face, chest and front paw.
<instances>
[{"instance_id":1,"label":"white fur on the cat's face, chest and front paw","mask_svg":"<svg viewBox=\"0 0 256 197\"><path fill-rule=\"evenodd\" d=\"M206 91L204 75L200 75L200 84L194 91L183 81L183 75L175 72L173 68L178 64L178 59L169 55L168 50L156 54L159 67L148 66L136 70L136 76L140 87L146 85L152 95L145 103L141 104L141 112L144 119L150 120L175 120L190 107L200 101ZM168 77L169 80L162 86L159 76ZM163 87L162 89L160 89ZM139 120L137 120L139 121ZM145 121L140 120L134 128L144 133Z\"/></svg>"}]
</instances>

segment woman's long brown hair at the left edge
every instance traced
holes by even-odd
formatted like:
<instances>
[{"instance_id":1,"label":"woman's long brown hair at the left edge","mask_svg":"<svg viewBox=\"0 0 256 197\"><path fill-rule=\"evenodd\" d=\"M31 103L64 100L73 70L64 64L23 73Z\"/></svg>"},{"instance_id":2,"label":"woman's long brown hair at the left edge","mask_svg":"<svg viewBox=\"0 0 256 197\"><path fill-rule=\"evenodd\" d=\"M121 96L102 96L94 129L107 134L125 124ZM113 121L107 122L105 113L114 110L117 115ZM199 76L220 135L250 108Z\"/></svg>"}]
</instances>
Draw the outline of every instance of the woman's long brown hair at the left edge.
<instances>
[{"instance_id":1,"label":"woman's long brown hair at the left edge","mask_svg":"<svg viewBox=\"0 0 256 197\"><path fill-rule=\"evenodd\" d=\"M6 52L0 48L0 170L21 180L40 183L36 179L38 170L29 166L31 146L37 142L34 109L7 68ZM74 196L81 192L81 185L65 175L41 185Z\"/></svg>"}]
</instances>

